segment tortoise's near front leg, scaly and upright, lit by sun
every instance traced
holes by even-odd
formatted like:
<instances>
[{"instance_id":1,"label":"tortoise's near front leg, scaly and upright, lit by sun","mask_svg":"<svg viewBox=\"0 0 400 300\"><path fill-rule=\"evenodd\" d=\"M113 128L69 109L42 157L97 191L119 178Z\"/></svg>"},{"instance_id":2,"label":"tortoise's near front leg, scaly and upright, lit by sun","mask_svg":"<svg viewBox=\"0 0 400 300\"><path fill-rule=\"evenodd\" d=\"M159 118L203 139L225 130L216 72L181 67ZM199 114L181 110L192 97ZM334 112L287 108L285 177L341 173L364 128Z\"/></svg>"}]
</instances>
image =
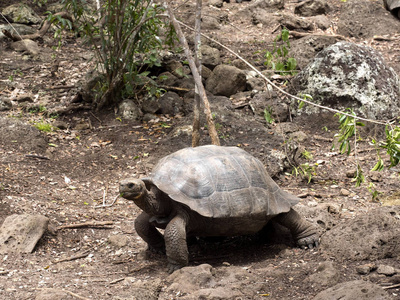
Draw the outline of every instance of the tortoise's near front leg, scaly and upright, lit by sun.
<instances>
[{"instance_id":1,"label":"tortoise's near front leg, scaly and upright, lit by sun","mask_svg":"<svg viewBox=\"0 0 400 300\"><path fill-rule=\"evenodd\" d=\"M168 273L172 273L189 263L189 252L186 243L186 220L176 215L167 225L164 232L165 247L168 258Z\"/></svg>"}]
</instances>

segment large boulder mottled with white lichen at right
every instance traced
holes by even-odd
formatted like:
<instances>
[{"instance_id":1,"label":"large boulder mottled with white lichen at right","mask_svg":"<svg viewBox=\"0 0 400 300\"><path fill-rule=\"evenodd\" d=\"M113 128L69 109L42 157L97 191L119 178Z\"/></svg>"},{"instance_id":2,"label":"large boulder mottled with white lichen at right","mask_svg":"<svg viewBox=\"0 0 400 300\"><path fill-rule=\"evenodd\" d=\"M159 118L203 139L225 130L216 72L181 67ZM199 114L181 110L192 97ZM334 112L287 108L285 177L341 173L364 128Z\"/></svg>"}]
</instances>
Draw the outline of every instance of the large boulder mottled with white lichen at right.
<instances>
[{"instance_id":1,"label":"large boulder mottled with white lichen at right","mask_svg":"<svg viewBox=\"0 0 400 300\"><path fill-rule=\"evenodd\" d=\"M321 52L292 81L293 93L309 94L315 103L354 111L371 119L400 112L400 80L374 49L338 42ZM306 105L298 113L318 113Z\"/></svg>"}]
</instances>

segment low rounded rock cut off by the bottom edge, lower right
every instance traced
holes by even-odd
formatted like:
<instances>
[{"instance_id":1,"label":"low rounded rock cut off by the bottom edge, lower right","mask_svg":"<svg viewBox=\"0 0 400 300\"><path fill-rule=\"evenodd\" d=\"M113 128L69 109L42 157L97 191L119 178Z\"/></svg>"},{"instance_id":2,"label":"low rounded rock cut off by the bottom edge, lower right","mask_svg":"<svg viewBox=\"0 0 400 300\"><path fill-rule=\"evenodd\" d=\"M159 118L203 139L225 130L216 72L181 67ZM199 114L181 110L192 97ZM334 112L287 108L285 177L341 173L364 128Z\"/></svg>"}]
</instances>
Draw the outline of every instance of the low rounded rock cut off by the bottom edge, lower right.
<instances>
[{"instance_id":1,"label":"low rounded rock cut off by the bottom edge, lower right","mask_svg":"<svg viewBox=\"0 0 400 300\"><path fill-rule=\"evenodd\" d=\"M313 300L389 300L391 299L379 285L363 280L339 283L320 292Z\"/></svg>"}]
</instances>

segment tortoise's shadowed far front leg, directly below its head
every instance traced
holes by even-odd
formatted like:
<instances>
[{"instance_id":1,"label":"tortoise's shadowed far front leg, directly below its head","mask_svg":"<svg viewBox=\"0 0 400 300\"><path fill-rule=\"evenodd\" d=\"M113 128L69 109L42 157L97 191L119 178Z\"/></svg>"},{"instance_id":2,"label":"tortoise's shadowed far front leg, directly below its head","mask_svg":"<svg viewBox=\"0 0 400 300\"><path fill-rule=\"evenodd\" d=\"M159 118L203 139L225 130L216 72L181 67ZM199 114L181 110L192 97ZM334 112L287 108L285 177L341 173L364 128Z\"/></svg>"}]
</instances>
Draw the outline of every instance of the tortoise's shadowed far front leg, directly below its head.
<instances>
[{"instance_id":1,"label":"tortoise's shadowed far front leg, directly below its head","mask_svg":"<svg viewBox=\"0 0 400 300\"><path fill-rule=\"evenodd\" d=\"M136 232L148 244L149 250L165 253L164 238L149 219L150 216L142 212L135 220Z\"/></svg>"}]
</instances>

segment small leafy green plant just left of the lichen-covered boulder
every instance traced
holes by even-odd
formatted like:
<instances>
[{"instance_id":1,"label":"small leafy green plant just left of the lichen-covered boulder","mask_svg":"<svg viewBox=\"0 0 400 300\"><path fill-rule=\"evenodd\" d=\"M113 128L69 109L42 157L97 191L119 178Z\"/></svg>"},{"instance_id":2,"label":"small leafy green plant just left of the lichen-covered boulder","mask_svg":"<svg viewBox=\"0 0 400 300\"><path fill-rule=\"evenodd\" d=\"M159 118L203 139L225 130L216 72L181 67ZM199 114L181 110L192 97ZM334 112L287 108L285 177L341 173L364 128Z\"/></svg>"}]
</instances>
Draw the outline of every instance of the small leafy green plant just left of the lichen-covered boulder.
<instances>
[{"instance_id":1,"label":"small leafy green plant just left of the lichen-covered boulder","mask_svg":"<svg viewBox=\"0 0 400 300\"><path fill-rule=\"evenodd\" d=\"M281 43L278 45L278 42ZM295 75L297 61L289 57L289 30L283 28L281 33L274 39L274 48L272 51L265 50L264 65L271 68L278 74Z\"/></svg>"}]
</instances>

